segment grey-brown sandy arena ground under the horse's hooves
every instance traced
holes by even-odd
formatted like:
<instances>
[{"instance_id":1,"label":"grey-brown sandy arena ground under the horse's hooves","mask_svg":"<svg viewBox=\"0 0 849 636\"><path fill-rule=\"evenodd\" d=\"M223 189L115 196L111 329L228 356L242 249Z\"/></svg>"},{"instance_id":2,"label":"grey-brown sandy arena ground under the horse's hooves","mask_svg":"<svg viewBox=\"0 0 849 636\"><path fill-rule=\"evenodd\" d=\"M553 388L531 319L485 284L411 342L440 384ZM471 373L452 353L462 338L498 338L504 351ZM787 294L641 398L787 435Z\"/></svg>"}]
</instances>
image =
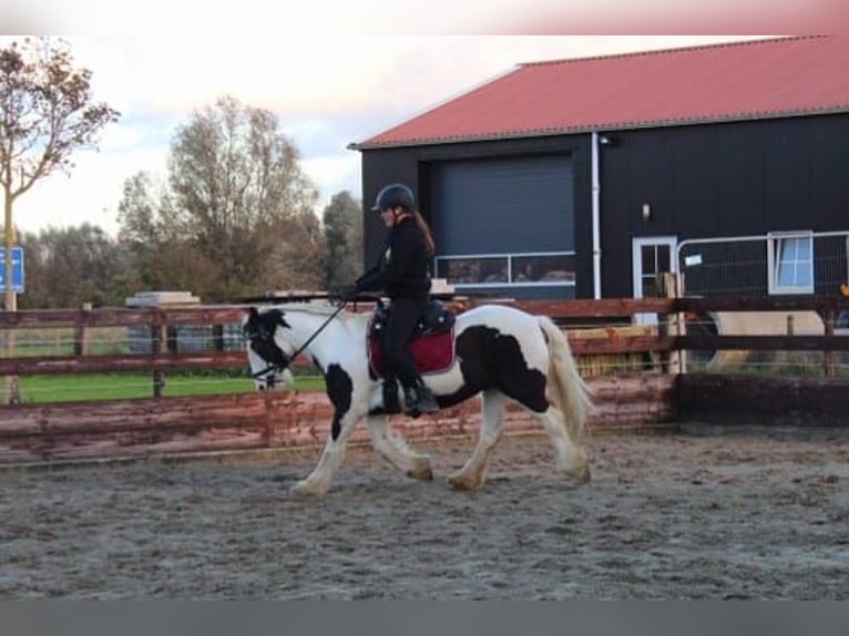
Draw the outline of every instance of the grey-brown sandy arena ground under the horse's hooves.
<instances>
[{"instance_id":1,"label":"grey-brown sandy arena ground under the horse's hooves","mask_svg":"<svg viewBox=\"0 0 849 636\"><path fill-rule=\"evenodd\" d=\"M350 449L318 500L317 451L2 470L0 598L849 598L849 430L586 444L589 485L508 437L472 493L472 440L419 445L426 483Z\"/></svg>"}]
</instances>

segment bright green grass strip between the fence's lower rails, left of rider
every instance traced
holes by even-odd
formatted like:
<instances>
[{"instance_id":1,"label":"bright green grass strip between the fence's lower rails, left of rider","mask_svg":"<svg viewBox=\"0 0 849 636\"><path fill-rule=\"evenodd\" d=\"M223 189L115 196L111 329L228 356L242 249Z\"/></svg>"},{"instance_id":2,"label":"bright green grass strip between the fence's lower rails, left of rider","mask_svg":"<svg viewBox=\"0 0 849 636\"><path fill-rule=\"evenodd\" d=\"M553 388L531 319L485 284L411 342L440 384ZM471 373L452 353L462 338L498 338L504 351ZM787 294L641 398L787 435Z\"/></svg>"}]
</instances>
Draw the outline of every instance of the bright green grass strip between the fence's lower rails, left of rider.
<instances>
[{"instance_id":1,"label":"bright green grass strip between the fence's lower rails, left of rider","mask_svg":"<svg viewBox=\"0 0 849 636\"><path fill-rule=\"evenodd\" d=\"M18 379L23 403L124 400L153 397L150 373L86 373L79 376L28 376ZM296 376L295 390L323 391L324 379ZM165 377L166 397L249 393L254 381L244 377L172 375Z\"/></svg>"}]
</instances>

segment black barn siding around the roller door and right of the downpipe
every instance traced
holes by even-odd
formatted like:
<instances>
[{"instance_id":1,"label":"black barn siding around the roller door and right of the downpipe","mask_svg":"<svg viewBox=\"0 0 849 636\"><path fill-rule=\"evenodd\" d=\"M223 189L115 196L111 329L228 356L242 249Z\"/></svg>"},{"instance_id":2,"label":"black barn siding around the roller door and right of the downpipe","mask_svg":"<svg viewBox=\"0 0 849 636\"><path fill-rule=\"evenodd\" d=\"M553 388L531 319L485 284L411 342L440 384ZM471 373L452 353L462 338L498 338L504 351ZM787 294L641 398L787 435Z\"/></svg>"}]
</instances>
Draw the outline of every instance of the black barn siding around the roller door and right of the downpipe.
<instances>
[{"instance_id":1,"label":"black barn siding around the roller door and right of the downpipe","mask_svg":"<svg viewBox=\"0 0 849 636\"><path fill-rule=\"evenodd\" d=\"M849 227L849 114L605 131L600 148L602 296L630 297L633 237L677 239ZM452 158L569 153L574 167L579 298L593 295L591 135L362 151L365 207L390 181L412 186L426 217L429 166ZM642 205L652 206L649 222ZM366 213L366 252L382 228Z\"/></svg>"}]
</instances>

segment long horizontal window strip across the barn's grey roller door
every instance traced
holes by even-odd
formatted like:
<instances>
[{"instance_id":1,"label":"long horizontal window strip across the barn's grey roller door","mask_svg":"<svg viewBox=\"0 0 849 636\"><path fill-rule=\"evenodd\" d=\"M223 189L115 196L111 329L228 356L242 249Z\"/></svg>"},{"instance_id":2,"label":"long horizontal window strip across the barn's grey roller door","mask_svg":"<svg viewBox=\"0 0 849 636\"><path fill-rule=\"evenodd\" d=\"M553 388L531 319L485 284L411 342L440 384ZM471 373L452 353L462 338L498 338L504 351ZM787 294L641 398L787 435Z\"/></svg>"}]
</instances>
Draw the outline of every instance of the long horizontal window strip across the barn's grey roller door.
<instances>
[{"instance_id":1,"label":"long horizontal window strip across the barn's grey roller door","mask_svg":"<svg viewBox=\"0 0 849 636\"><path fill-rule=\"evenodd\" d=\"M575 285L575 254L485 254L439 256L437 276L457 288Z\"/></svg>"}]
</instances>

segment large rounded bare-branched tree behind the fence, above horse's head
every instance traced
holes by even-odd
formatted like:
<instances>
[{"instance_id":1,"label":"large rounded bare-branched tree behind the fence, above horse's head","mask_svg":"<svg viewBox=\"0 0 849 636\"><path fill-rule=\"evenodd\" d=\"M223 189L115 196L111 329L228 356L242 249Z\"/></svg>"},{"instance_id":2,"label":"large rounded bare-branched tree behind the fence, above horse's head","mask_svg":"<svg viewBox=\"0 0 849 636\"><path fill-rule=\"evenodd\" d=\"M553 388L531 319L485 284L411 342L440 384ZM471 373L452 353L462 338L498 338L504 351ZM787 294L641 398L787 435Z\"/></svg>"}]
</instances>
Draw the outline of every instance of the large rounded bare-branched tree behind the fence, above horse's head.
<instances>
[{"instance_id":1,"label":"large rounded bare-branched tree behind the fence, above horse's head","mask_svg":"<svg viewBox=\"0 0 849 636\"><path fill-rule=\"evenodd\" d=\"M195 112L171 144L168 185L160 224L215 264L214 299L320 285L318 194L269 111L224 96Z\"/></svg>"}]
</instances>

